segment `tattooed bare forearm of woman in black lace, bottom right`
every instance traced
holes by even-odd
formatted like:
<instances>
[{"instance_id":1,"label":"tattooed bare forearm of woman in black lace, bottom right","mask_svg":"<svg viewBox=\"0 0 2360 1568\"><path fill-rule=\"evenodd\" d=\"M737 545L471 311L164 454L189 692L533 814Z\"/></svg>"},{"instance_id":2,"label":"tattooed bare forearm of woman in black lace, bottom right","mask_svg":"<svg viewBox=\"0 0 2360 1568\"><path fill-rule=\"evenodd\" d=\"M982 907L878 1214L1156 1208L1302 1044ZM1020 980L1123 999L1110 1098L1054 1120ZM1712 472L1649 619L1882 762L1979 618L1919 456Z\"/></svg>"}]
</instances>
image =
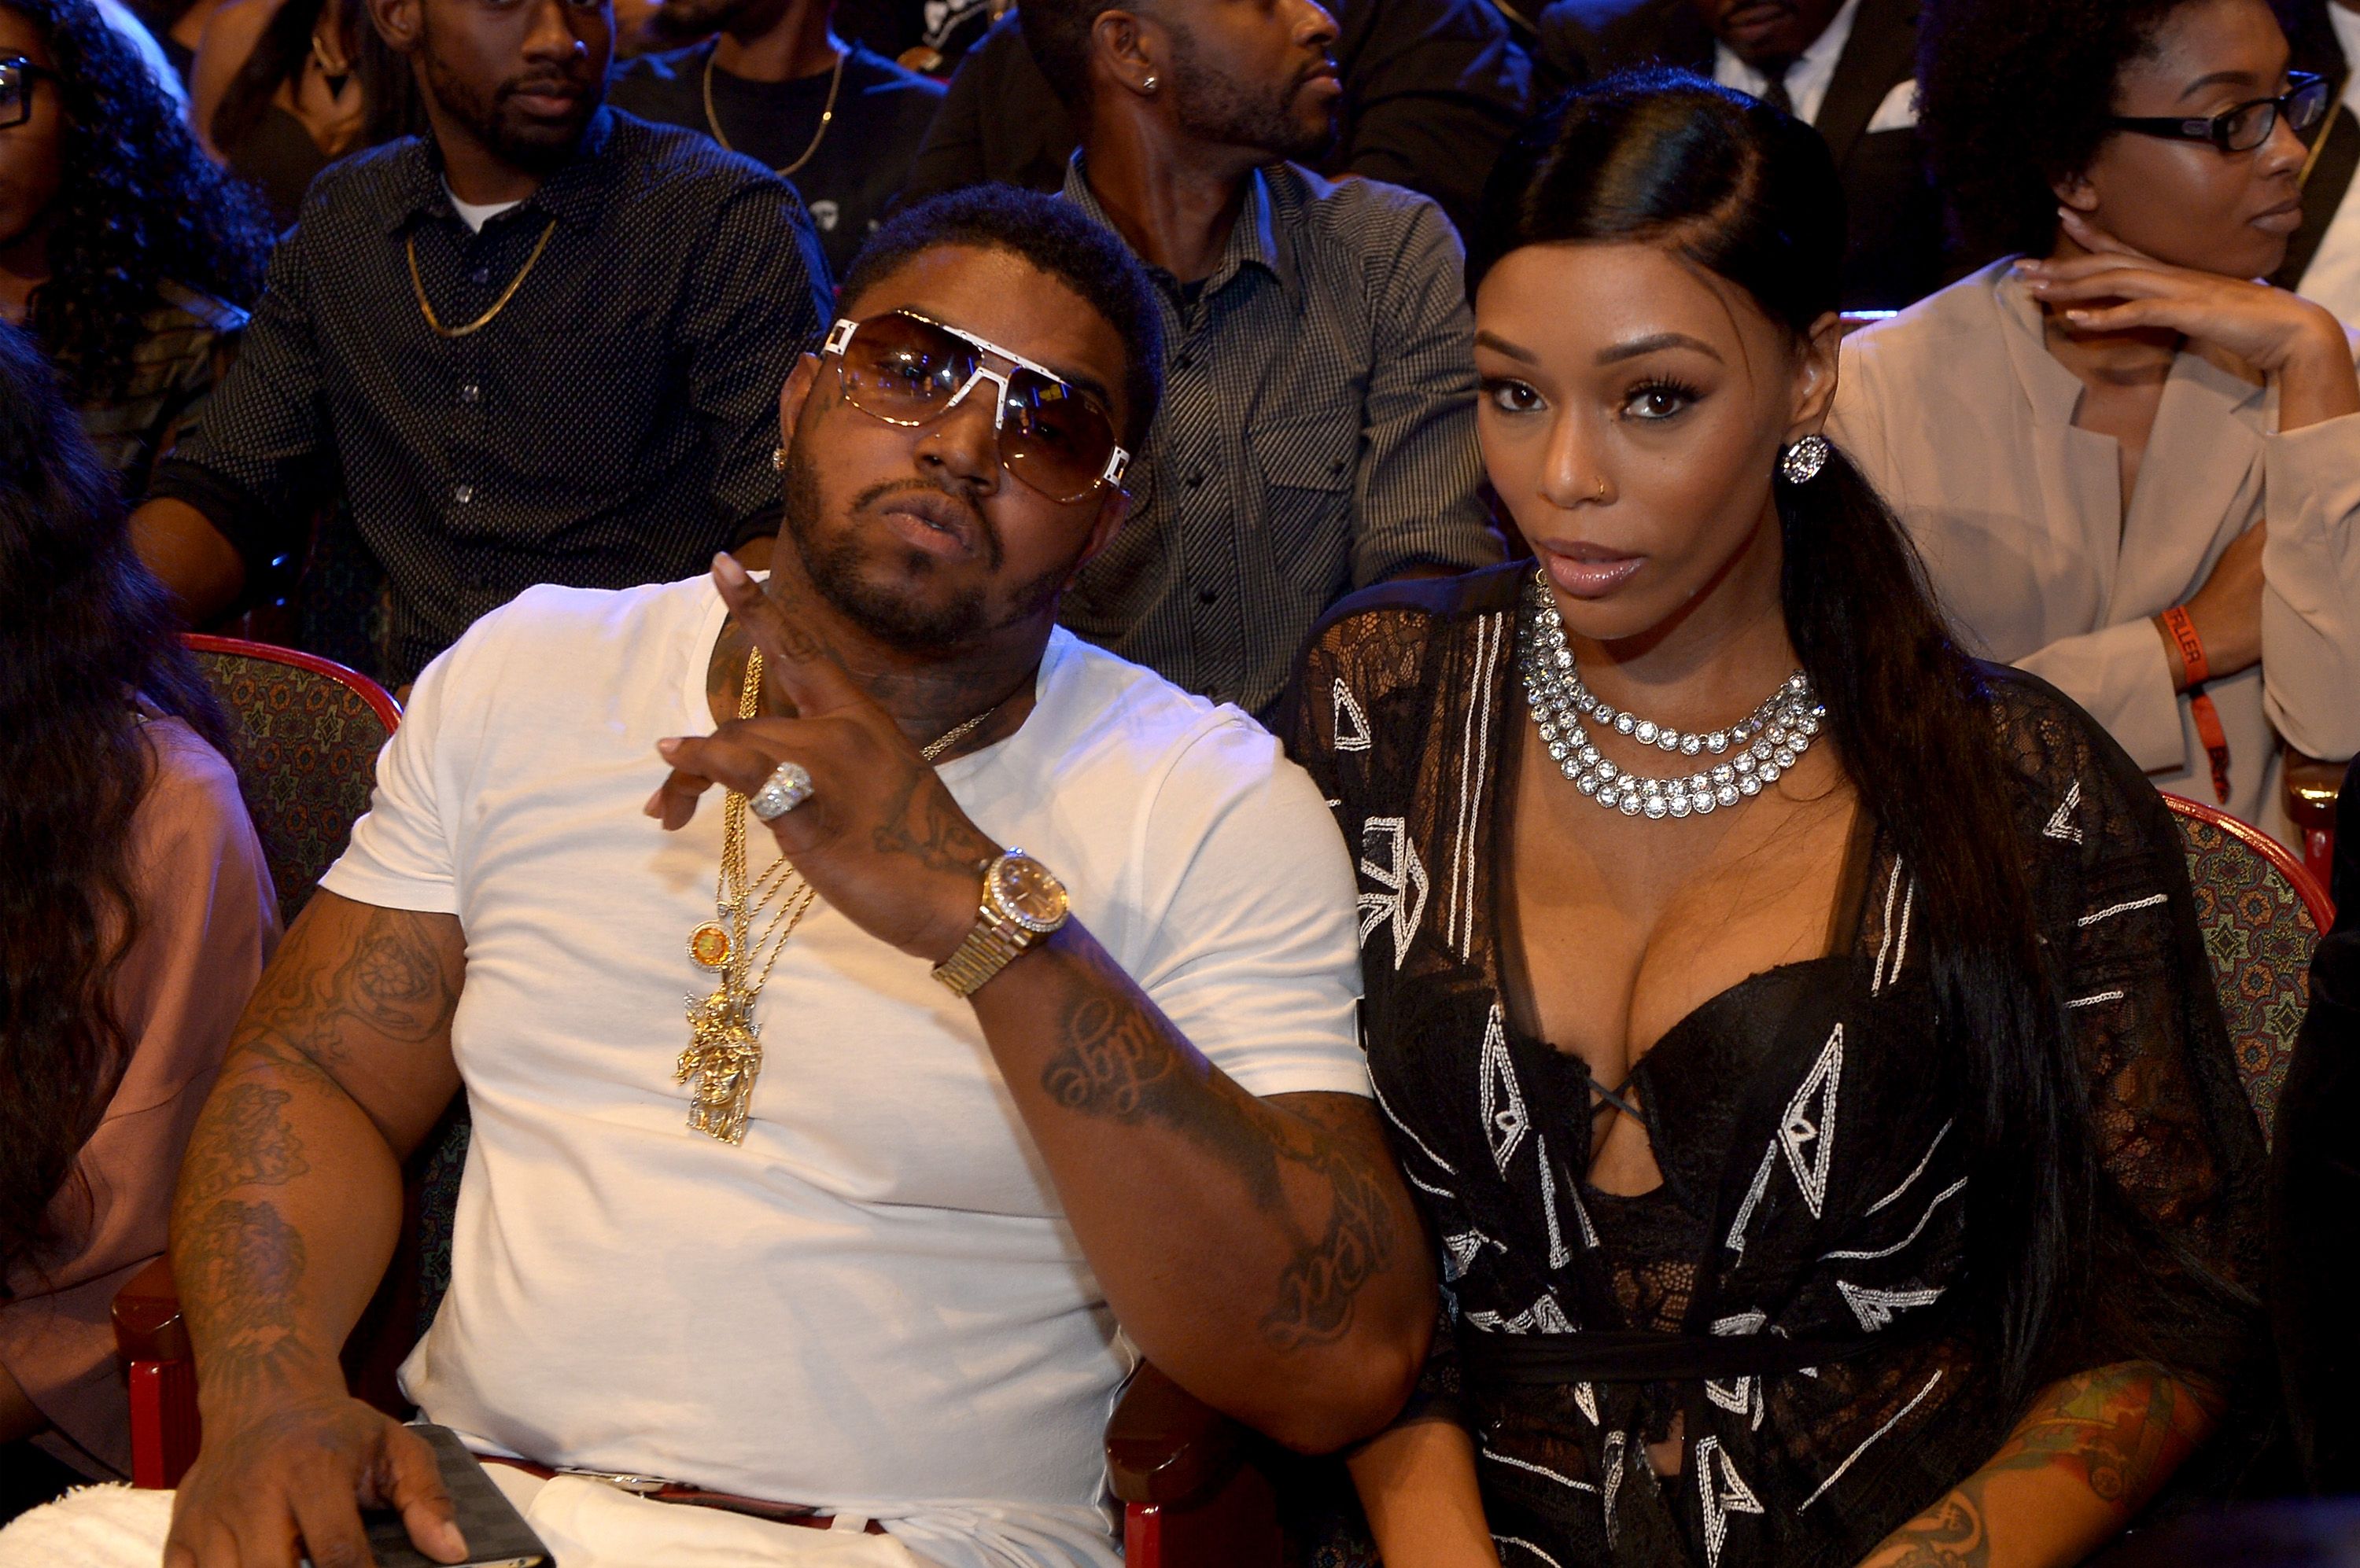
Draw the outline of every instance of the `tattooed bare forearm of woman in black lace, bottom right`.
<instances>
[{"instance_id":1,"label":"tattooed bare forearm of woman in black lace, bottom right","mask_svg":"<svg viewBox=\"0 0 2360 1568\"><path fill-rule=\"evenodd\" d=\"M2079 1563L2204 1441L2214 1401L2152 1363L2051 1384L1989 1464L1905 1523L1862 1568Z\"/></svg>"}]
</instances>

